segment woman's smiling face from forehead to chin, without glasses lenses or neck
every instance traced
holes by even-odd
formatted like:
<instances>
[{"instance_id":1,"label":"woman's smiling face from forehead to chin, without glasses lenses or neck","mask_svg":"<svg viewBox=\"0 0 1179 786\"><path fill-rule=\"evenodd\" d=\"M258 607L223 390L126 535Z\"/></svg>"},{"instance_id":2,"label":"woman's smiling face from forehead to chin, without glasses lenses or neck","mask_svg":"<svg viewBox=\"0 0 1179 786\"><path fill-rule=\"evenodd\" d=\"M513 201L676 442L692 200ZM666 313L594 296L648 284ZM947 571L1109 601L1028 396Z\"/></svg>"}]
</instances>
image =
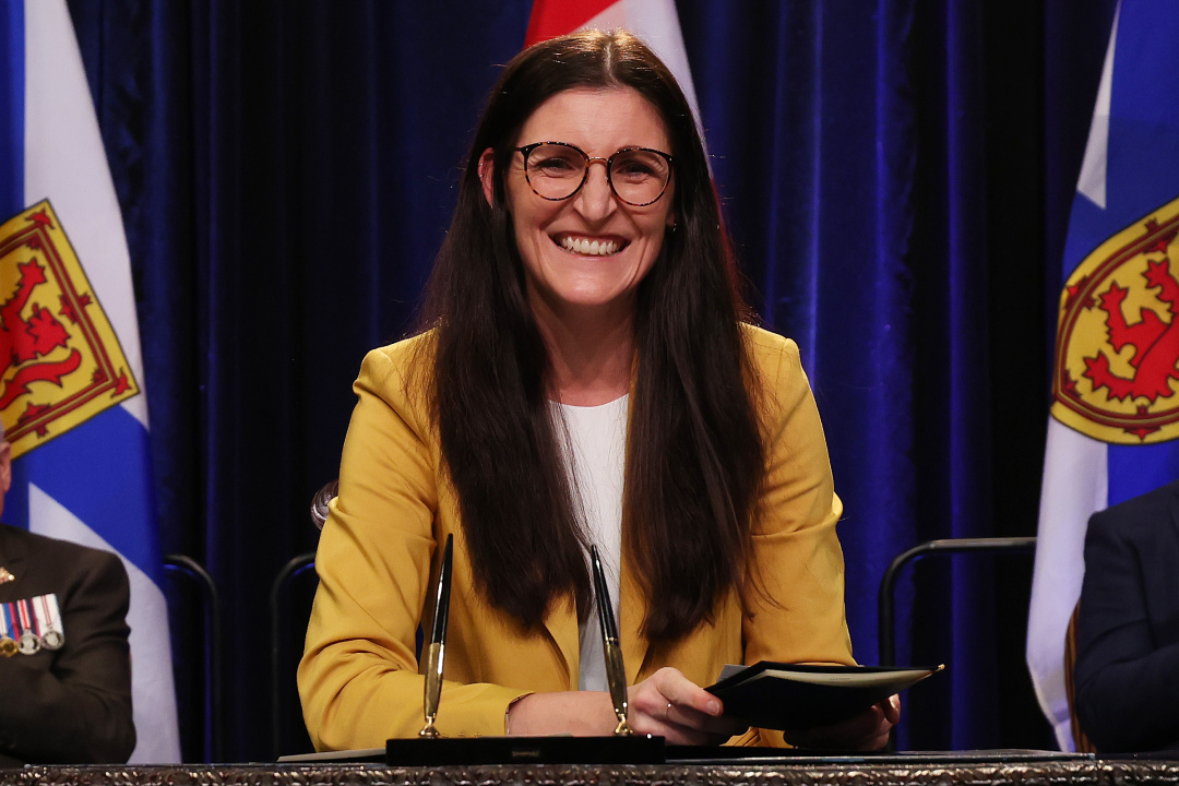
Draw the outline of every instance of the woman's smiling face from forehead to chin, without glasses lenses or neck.
<instances>
[{"instance_id":1,"label":"woman's smiling face from forehead to chin, without glasses lenses or neck","mask_svg":"<svg viewBox=\"0 0 1179 786\"><path fill-rule=\"evenodd\" d=\"M623 147L673 152L659 113L630 87L578 88L553 95L523 124L516 145L545 141L575 145L601 159ZM480 174L488 200L490 170L487 151ZM615 171L615 183L620 177ZM637 207L614 194L605 160L595 160L573 197L551 202L532 190L523 154L516 152L505 184L528 298L538 317L545 312L574 316L587 309L628 313L639 282L659 256L666 227L674 224L674 183L653 204Z\"/></svg>"}]
</instances>

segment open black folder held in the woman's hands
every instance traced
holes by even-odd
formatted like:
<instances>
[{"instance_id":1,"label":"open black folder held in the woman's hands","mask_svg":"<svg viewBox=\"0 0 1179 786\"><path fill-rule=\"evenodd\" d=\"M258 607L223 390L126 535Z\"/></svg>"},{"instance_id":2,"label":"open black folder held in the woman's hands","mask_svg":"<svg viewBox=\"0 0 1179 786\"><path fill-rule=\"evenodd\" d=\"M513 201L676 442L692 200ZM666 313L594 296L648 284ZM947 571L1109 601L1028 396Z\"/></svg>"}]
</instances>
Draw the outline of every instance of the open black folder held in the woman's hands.
<instances>
[{"instance_id":1,"label":"open black folder held in the woman's hands","mask_svg":"<svg viewBox=\"0 0 1179 786\"><path fill-rule=\"evenodd\" d=\"M725 713L760 728L802 729L837 724L942 671L884 666L809 666L760 661L725 666L707 688Z\"/></svg>"}]
</instances>

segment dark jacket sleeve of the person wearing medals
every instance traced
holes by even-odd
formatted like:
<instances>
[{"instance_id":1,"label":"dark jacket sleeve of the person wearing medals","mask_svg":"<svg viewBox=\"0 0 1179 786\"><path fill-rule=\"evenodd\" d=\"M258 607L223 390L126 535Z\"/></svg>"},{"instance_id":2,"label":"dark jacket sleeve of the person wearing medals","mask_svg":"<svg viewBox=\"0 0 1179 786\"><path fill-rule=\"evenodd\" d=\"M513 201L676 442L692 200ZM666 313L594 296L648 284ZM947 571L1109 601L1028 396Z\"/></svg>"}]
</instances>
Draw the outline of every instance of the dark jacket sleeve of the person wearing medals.
<instances>
[{"instance_id":1,"label":"dark jacket sleeve of the person wearing medals","mask_svg":"<svg viewBox=\"0 0 1179 786\"><path fill-rule=\"evenodd\" d=\"M0 752L26 762L124 762L136 746L127 573L113 554L83 554L58 593L66 642L52 668L0 659Z\"/></svg>"}]
</instances>

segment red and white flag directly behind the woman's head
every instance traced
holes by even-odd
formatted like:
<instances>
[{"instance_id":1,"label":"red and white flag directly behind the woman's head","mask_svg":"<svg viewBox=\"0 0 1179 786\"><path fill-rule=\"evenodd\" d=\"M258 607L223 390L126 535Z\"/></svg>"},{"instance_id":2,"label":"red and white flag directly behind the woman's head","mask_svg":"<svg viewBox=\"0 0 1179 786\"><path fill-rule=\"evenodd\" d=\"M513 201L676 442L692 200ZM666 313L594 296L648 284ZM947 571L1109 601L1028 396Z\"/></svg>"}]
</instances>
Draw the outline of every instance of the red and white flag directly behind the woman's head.
<instances>
[{"instance_id":1,"label":"red and white flag directly behind the woman's head","mask_svg":"<svg viewBox=\"0 0 1179 786\"><path fill-rule=\"evenodd\" d=\"M674 0L534 0L525 46L586 28L623 28L643 39L676 77L697 128L704 127Z\"/></svg>"}]
</instances>

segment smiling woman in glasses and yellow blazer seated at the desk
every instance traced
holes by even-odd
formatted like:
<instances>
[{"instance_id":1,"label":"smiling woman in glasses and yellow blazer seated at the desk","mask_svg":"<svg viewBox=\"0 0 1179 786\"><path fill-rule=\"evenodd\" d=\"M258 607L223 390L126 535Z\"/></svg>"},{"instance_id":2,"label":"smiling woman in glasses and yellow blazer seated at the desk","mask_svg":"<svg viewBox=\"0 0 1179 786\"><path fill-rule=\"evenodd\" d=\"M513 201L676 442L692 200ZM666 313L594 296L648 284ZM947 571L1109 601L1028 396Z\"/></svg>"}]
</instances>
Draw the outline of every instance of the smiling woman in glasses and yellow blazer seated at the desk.
<instances>
[{"instance_id":1,"label":"smiling woman in glasses and yellow blazer seated at the desk","mask_svg":"<svg viewBox=\"0 0 1179 786\"><path fill-rule=\"evenodd\" d=\"M585 32L509 62L423 332L355 385L299 667L317 748L421 728L415 633L449 534L444 735L613 729L597 543L634 729L782 744L700 686L727 662L852 662L842 506L797 348L744 316L703 145L651 51ZM790 741L878 747L896 714Z\"/></svg>"}]
</instances>

